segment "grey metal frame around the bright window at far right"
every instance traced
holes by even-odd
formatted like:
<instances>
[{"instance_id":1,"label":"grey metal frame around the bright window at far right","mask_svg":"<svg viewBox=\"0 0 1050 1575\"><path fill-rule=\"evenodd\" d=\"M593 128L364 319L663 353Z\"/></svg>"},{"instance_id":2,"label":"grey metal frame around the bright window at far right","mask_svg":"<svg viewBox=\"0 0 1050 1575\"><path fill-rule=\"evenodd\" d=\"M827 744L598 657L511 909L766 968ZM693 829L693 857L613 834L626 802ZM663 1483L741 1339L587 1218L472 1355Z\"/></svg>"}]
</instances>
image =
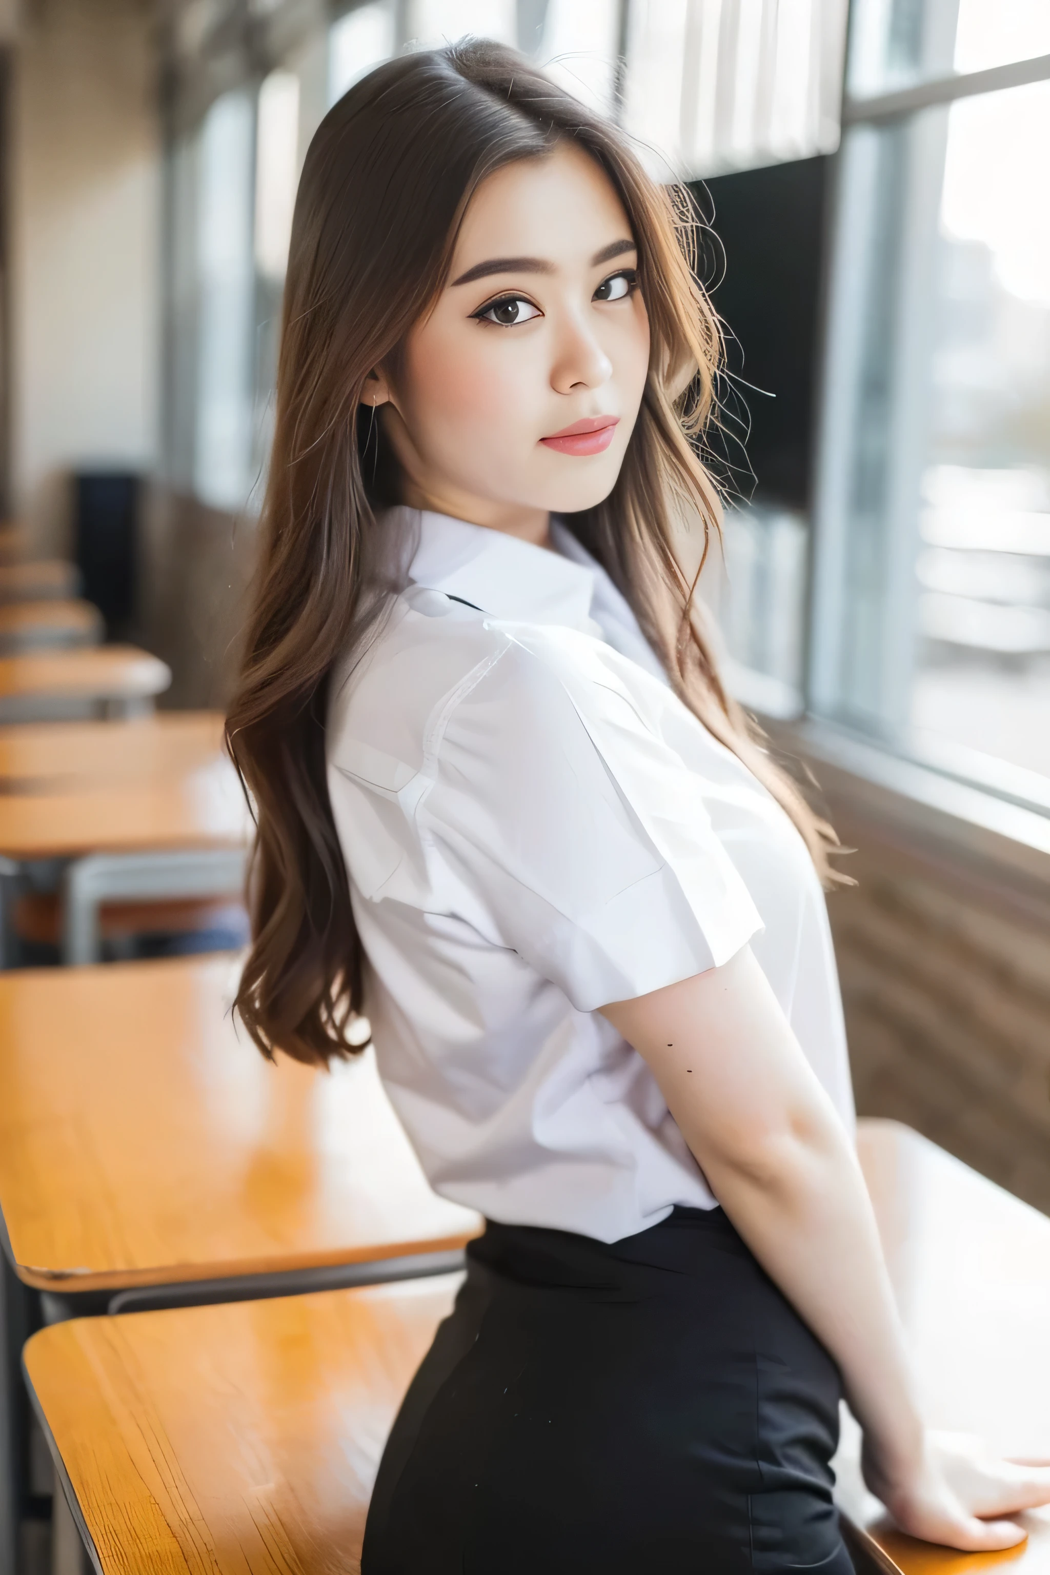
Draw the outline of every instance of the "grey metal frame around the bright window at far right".
<instances>
[{"instance_id":1,"label":"grey metal frame around the bright window at far right","mask_svg":"<svg viewBox=\"0 0 1050 1575\"><path fill-rule=\"evenodd\" d=\"M849 46L847 46L849 60ZM1050 884L1050 783L1047 791L1033 791L1033 775L1022 767L998 758L989 759L982 769L973 759L974 751L959 748L959 761L952 748L937 751L938 758L922 759L921 748L907 753L894 747L893 726L861 732L849 721L837 720L834 710L839 699L839 658L842 641L842 587L847 575L849 554L855 547L852 518L845 498L844 455L850 446L842 443L850 424L852 395L842 397L850 387L844 378L845 365L856 356L860 321L858 249L864 238L858 228L858 205L850 178L863 154L863 134L900 126L902 132L915 128L924 110L949 106L963 98L998 93L1004 88L1025 87L1050 80L1050 55L1017 60L985 71L930 77L924 82L893 91L866 96L847 94L842 104L842 143L834 156L830 191L828 255L825 279L823 348L820 354L820 387L817 391L817 441L815 487L811 536L811 595L808 619L806 663L806 717L789 728L775 729L782 747L811 758L822 775L830 773L830 783L839 792L867 805L878 819L891 821L899 828L911 827L911 835L922 841L932 836L967 857L992 860L1004 874L1025 873L1037 884ZM940 117L927 117L935 123ZM943 117L946 121L946 113ZM913 202L922 194L911 194ZM861 260L861 268L863 268ZM921 288L908 287L918 298ZM908 317L907 302L904 313ZM921 351L919 351L921 353ZM902 362L913 358L910 348ZM894 373L894 384L907 376L907 370ZM889 398L889 422L897 427L907 411L907 394L894 408ZM907 474L908 465L894 468ZM902 536L904 532L896 532ZM916 587L907 542L882 542L885 553L885 586L893 584L893 594L883 589L883 606L893 595L913 598ZM885 614L883 614L885 616ZM893 643L889 643L893 644ZM883 658L878 684L883 690L885 718L900 707L900 688L905 680L905 665L900 650L889 650Z\"/></svg>"}]
</instances>

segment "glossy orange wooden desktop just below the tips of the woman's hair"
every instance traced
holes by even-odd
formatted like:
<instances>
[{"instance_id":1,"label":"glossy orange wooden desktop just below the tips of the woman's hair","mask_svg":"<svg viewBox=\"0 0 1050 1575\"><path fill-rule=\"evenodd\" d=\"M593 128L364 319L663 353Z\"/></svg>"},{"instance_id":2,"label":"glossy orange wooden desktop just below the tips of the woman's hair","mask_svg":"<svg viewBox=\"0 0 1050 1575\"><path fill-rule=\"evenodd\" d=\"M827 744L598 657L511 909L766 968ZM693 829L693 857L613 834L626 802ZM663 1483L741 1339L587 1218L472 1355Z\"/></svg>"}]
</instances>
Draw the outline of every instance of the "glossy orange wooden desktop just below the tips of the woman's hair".
<instances>
[{"instance_id":1,"label":"glossy orange wooden desktop just below the tips of the woman's hair","mask_svg":"<svg viewBox=\"0 0 1050 1575\"><path fill-rule=\"evenodd\" d=\"M0 975L0 1210L19 1276L76 1292L449 1251L372 1057L263 1060L230 956Z\"/></svg>"}]
</instances>

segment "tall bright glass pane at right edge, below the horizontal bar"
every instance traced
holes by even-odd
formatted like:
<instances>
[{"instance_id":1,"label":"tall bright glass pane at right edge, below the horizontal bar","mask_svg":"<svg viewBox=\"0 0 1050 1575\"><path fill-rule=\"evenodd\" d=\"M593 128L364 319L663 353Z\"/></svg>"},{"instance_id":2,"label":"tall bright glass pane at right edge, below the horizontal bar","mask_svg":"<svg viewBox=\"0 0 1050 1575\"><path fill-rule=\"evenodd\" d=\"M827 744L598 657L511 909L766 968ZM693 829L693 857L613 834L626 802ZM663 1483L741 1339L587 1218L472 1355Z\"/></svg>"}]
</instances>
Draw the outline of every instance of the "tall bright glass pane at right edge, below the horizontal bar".
<instances>
[{"instance_id":1,"label":"tall bright glass pane at right edge, below the horizontal bar","mask_svg":"<svg viewBox=\"0 0 1050 1575\"><path fill-rule=\"evenodd\" d=\"M911 723L1050 776L1050 82L951 110Z\"/></svg>"}]
</instances>

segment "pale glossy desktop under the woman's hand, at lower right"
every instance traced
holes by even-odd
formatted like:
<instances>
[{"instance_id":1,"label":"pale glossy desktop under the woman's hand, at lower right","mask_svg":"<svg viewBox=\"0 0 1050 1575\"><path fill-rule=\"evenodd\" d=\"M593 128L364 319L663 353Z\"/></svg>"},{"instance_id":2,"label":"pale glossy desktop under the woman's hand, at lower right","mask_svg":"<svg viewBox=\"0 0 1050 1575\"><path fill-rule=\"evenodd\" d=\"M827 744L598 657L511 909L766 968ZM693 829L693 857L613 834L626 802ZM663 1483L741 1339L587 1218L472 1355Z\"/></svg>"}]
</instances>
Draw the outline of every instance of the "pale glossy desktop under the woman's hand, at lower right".
<instances>
[{"instance_id":1,"label":"pale glossy desktop under the woman's hand, at lower right","mask_svg":"<svg viewBox=\"0 0 1050 1575\"><path fill-rule=\"evenodd\" d=\"M1050 1457L1050 1219L894 1121L861 1121L860 1154L932 1427ZM885 1570L1050 1572L1050 1509L1017 1517L1022 1548L963 1555L893 1531L842 1441L839 1501Z\"/></svg>"}]
</instances>

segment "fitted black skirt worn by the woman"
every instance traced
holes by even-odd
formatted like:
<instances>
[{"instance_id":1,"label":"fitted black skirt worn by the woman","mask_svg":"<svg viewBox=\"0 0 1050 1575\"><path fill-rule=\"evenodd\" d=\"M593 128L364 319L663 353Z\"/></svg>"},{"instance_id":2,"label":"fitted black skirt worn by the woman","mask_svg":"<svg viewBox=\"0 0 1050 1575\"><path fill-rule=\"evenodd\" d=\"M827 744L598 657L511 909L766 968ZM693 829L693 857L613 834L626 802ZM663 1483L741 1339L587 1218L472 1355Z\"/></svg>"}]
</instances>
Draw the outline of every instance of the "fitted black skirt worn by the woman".
<instances>
[{"instance_id":1,"label":"fitted black skirt worn by the woman","mask_svg":"<svg viewBox=\"0 0 1050 1575\"><path fill-rule=\"evenodd\" d=\"M490 1224L383 1455L362 1575L852 1575L839 1373L723 1210Z\"/></svg>"}]
</instances>

